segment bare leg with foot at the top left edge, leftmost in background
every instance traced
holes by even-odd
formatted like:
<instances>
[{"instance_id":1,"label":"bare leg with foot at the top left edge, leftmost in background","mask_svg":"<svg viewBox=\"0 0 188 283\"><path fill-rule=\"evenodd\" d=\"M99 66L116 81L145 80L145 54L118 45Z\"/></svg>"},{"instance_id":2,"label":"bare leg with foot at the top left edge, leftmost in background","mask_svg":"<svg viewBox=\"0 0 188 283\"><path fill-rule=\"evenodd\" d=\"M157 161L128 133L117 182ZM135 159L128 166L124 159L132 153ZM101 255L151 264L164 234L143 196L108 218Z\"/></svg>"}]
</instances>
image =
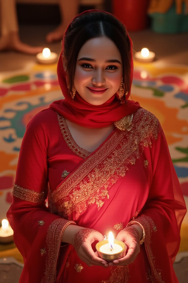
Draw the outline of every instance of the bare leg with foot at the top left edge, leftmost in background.
<instances>
[{"instance_id":1,"label":"bare leg with foot at the top left edge, leftmost in background","mask_svg":"<svg viewBox=\"0 0 188 283\"><path fill-rule=\"evenodd\" d=\"M27 54L37 54L43 50L20 40L15 0L0 0L0 51L3 50Z\"/></svg>"}]
</instances>

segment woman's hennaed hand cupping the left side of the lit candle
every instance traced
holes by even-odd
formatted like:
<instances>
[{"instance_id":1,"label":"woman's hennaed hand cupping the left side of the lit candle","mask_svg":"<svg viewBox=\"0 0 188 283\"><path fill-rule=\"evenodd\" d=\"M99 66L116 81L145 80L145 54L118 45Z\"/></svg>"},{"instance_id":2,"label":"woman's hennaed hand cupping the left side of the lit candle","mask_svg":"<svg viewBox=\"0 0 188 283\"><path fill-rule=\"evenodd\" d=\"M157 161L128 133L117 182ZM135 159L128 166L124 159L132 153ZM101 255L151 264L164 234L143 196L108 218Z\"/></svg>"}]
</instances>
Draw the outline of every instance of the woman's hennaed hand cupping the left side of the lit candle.
<instances>
[{"instance_id":1,"label":"woman's hennaed hand cupping the left side of the lit candle","mask_svg":"<svg viewBox=\"0 0 188 283\"><path fill-rule=\"evenodd\" d=\"M107 261L99 258L97 252L92 249L92 243L94 241L102 241L103 235L96 230L82 228L78 230L74 235L73 246L76 250L79 258L87 265L100 265L108 267Z\"/></svg>"}]
</instances>

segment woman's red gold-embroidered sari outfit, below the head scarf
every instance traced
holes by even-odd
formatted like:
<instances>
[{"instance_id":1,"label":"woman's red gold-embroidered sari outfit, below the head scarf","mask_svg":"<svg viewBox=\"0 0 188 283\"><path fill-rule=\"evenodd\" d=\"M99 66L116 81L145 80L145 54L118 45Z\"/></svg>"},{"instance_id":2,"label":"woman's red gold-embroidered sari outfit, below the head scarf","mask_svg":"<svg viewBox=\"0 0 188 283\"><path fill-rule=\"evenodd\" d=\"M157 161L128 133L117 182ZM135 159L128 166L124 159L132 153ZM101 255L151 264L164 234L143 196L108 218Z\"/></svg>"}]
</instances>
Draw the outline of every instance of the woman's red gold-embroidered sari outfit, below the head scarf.
<instances>
[{"instance_id":1,"label":"woman's red gold-embroidered sari outfit, below the head scarf","mask_svg":"<svg viewBox=\"0 0 188 283\"><path fill-rule=\"evenodd\" d=\"M20 283L178 282L172 263L185 203L163 131L141 108L116 125L124 130L89 153L51 109L28 124L7 214L25 260ZM146 236L128 266L88 267L61 243L69 223L115 236L132 219Z\"/></svg>"}]
</instances>

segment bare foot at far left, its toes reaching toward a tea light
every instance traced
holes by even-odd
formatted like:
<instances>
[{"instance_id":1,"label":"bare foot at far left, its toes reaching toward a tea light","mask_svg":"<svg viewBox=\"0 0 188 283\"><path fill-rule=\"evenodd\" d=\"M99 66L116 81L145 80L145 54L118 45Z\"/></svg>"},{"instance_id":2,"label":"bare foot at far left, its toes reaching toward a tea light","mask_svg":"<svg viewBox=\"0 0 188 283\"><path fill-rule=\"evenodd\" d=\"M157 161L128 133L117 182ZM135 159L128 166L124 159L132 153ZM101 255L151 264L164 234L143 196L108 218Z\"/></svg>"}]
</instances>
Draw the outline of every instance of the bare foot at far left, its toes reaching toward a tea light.
<instances>
[{"instance_id":1,"label":"bare foot at far left, its toes reaching toward a tea light","mask_svg":"<svg viewBox=\"0 0 188 283\"><path fill-rule=\"evenodd\" d=\"M43 47L30 46L26 43L21 42L17 33L10 33L6 36L0 37L0 51L3 50L14 50L26 54L37 54L43 51Z\"/></svg>"}]
</instances>

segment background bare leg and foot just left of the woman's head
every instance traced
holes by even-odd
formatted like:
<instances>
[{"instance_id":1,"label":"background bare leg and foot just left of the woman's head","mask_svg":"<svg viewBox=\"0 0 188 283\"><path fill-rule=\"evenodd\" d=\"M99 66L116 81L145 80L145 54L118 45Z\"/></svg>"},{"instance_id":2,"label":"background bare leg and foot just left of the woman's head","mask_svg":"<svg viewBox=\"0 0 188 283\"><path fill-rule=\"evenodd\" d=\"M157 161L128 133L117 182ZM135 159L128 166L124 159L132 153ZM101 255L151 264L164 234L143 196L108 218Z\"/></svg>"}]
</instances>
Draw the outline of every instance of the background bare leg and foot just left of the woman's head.
<instances>
[{"instance_id":1,"label":"background bare leg and foot just left of the woman's head","mask_svg":"<svg viewBox=\"0 0 188 283\"><path fill-rule=\"evenodd\" d=\"M79 0L59 0L61 23L54 31L47 34L47 42L53 42L63 38L65 29L70 21L78 14L78 10Z\"/></svg>"}]
</instances>

